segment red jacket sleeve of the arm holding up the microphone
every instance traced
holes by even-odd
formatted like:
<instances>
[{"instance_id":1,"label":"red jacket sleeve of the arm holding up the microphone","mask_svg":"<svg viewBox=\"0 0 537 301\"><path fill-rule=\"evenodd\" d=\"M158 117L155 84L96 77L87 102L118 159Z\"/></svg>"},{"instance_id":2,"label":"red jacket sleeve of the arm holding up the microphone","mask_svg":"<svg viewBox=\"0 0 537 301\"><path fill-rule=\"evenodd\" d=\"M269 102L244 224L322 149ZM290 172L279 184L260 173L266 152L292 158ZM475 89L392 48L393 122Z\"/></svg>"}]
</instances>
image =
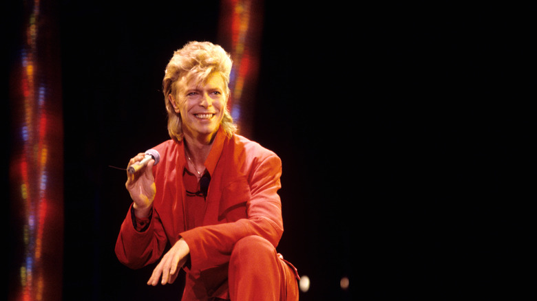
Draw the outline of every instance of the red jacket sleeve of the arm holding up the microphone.
<instances>
[{"instance_id":1,"label":"red jacket sleeve of the arm holding up the microphone","mask_svg":"<svg viewBox=\"0 0 537 301\"><path fill-rule=\"evenodd\" d=\"M167 237L156 210L153 210L149 227L138 232L134 228L131 209L121 224L116 241L116 256L123 265L139 269L160 258L166 247Z\"/></svg>"}]
</instances>

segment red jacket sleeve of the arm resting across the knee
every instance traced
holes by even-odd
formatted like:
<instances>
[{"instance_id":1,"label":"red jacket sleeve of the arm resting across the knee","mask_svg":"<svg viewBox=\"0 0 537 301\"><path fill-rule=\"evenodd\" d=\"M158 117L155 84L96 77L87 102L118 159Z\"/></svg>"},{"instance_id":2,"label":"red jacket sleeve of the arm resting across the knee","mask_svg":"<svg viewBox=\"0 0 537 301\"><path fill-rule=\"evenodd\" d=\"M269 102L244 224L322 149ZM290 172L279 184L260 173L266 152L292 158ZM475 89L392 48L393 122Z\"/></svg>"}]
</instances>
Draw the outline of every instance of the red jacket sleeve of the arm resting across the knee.
<instances>
[{"instance_id":1,"label":"red jacket sleeve of the arm resting across the knee","mask_svg":"<svg viewBox=\"0 0 537 301\"><path fill-rule=\"evenodd\" d=\"M196 227L182 232L190 249L191 269L207 269L229 262L231 250L241 238L261 236L274 247L284 232L280 189L282 161L269 155L253 166L249 183L240 192L249 194L246 201L246 219L231 223ZM232 184L233 185L233 184Z\"/></svg>"}]
</instances>

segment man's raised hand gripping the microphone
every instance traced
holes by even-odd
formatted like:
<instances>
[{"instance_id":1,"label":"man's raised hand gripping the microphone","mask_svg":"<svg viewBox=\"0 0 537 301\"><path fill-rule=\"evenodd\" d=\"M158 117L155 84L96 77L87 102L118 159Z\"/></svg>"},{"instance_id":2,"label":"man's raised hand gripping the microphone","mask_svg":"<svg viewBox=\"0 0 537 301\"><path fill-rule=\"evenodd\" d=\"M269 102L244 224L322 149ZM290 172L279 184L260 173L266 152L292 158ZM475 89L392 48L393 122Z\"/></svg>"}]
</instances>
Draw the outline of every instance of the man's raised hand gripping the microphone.
<instances>
[{"instance_id":1,"label":"man's raised hand gripping the microphone","mask_svg":"<svg viewBox=\"0 0 537 301\"><path fill-rule=\"evenodd\" d=\"M136 162L142 161L145 157L145 153L139 153L136 157L129 161L129 165L136 164ZM147 218L153 205L153 199L156 194L155 178L153 177L153 164L154 159L151 159L147 166L129 174L127 172L127 182L125 187L129 190L132 201L134 201L134 214L139 218ZM127 166L127 168L128 168Z\"/></svg>"}]
</instances>

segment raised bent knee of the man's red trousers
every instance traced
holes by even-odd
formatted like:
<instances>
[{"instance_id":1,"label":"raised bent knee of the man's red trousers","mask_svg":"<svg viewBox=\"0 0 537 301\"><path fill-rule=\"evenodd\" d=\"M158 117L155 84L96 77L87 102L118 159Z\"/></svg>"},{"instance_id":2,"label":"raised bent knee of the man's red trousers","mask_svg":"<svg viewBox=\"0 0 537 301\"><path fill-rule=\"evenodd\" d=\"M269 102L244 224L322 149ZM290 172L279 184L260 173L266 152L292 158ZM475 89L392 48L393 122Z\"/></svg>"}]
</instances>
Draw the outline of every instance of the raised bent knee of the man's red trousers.
<instances>
[{"instance_id":1,"label":"raised bent knee of the man's red trousers","mask_svg":"<svg viewBox=\"0 0 537 301\"><path fill-rule=\"evenodd\" d=\"M231 301L298 300L295 267L260 236L246 236L233 247L229 260Z\"/></svg>"}]
</instances>

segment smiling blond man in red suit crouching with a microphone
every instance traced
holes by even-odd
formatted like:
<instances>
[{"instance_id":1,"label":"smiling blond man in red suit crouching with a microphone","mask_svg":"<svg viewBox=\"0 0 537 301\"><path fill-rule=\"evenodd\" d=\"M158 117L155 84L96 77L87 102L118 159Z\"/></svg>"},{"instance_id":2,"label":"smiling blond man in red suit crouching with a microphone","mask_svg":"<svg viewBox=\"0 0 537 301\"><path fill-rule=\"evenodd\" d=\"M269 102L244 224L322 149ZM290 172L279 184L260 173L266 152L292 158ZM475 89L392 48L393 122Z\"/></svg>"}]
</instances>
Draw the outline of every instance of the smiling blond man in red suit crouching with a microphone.
<instances>
[{"instance_id":1,"label":"smiling blond man in red suit crouching with a microphone","mask_svg":"<svg viewBox=\"0 0 537 301\"><path fill-rule=\"evenodd\" d=\"M171 140L158 165L127 175L133 203L116 243L121 263L156 262L148 285L187 272L182 300L298 300L297 271L275 247L283 232L280 158L235 134L231 58L209 42L173 54L162 81ZM143 153L129 161L141 161Z\"/></svg>"}]
</instances>

